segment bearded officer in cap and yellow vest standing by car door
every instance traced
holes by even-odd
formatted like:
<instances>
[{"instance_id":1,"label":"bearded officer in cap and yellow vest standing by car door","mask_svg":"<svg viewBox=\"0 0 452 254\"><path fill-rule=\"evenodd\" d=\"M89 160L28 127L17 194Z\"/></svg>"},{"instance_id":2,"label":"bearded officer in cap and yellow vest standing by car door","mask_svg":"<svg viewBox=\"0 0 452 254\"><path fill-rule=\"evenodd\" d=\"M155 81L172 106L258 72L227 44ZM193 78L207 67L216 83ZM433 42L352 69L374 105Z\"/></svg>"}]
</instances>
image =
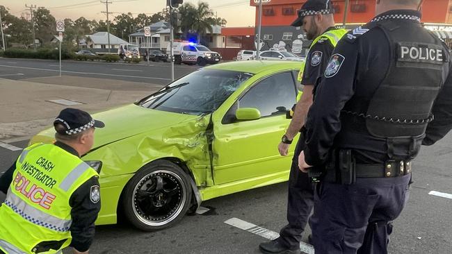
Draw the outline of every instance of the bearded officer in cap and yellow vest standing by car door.
<instances>
[{"instance_id":1,"label":"bearded officer in cap and yellow vest standing by car door","mask_svg":"<svg viewBox=\"0 0 452 254\"><path fill-rule=\"evenodd\" d=\"M289 175L287 201L287 221L280 230L280 237L259 245L262 253L300 253L300 241L305 230L309 214L312 211L314 192L307 173L298 169L298 155L303 149L303 130L307 110L312 104L314 85L323 75L328 58L339 39L346 34L344 29L334 28L334 9L330 0L308 0L298 10L298 18L291 26L302 26L308 40L313 40L307 53L304 69L300 69L301 84L304 85L302 96L296 105L293 118L282 141L278 145L280 154L286 156L292 139L301 132L292 159Z\"/></svg>"}]
</instances>

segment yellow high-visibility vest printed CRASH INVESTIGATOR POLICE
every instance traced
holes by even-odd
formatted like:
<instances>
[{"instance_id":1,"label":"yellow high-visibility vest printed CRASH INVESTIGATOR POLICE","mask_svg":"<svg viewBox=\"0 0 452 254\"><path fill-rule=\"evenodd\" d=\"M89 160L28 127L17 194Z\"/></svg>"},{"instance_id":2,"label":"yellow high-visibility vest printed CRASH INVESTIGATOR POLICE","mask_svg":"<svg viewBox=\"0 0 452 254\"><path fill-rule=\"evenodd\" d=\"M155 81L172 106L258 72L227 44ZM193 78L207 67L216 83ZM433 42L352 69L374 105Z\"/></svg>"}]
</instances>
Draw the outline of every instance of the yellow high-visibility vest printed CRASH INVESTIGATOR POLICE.
<instances>
[{"instance_id":1,"label":"yellow high-visibility vest printed CRASH INVESTIGATOR POLICE","mask_svg":"<svg viewBox=\"0 0 452 254\"><path fill-rule=\"evenodd\" d=\"M0 207L0 249L9 254L35 253L45 244L72 240L70 197L99 174L76 155L54 144L33 144L16 162L13 182Z\"/></svg>"}]
</instances>

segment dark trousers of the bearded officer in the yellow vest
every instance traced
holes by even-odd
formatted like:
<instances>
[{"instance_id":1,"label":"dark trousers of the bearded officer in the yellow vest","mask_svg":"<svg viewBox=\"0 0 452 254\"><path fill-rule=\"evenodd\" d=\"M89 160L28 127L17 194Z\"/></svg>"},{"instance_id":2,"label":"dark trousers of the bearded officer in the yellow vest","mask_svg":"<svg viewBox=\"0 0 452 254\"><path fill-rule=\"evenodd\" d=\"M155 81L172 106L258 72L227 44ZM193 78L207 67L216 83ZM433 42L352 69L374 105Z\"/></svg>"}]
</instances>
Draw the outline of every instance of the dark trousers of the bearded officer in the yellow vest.
<instances>
[{"instance_id":1,"label":"dark trousers of the bearded officer in the yellow vest","mask_svg":"<svg viewBox=\"0 0 452 254\"><path fill-rule=\"evenodd\" d=\"M280 230L278 242L287 248L300 248L302 232L305 230L309 214L314 205L314 187L310 183L307 173L298 168L298 155L305 148L305 139L300 139L293 154L291 172L289 175L289 190L287 192L287 221Z\"/></svg>"}]
</instances>

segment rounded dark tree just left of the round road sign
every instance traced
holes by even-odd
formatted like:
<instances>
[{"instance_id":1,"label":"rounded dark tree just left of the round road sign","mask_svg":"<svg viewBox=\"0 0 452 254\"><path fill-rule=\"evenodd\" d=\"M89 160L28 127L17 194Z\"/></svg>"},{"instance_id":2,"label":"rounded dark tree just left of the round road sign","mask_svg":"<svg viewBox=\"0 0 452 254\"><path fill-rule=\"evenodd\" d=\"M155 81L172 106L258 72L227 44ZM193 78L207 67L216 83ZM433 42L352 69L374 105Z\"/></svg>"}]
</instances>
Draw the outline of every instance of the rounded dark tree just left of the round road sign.
<instances>
[{"instance_id":1,"label":"rounded dark tree just left of the round road sign","mask_svg":"<svg viewBox=\"0 0 452 254\"><path fill-rule=\"evenodd\" d=\"M33 11L33 22L35 22L35 38L42 44L49 43L56 33L55 17L46 8L40 7Z\"/></svg>"}]
</instances>

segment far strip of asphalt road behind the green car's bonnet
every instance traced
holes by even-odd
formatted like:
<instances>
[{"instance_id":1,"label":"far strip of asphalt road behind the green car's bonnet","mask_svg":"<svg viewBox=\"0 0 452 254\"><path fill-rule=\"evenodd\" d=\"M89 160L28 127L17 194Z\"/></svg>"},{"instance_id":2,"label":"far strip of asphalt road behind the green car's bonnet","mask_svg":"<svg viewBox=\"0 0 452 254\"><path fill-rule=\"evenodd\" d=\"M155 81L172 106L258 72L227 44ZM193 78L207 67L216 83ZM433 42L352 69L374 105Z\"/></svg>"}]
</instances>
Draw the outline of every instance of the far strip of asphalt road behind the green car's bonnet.
<instances>
[{"instance_id":1,"label":"far strip of asphalt road behind the green car's bonnet","mask_svg":"<svg viewBox=\"0 0 452 254\"><path fill-rule=\"evenodd\" d=\"M61 75L92 78L110 78L123 81L166 85L171 81L169 62L141 62L138 65L122 62L77 62L63 61ZM175 65L175 78L189 74L199 67L196 65ZM0 58L0 78L24 79L58 76L59 62L56 60L35 60Z\"/></svg>"}]
</instances>

